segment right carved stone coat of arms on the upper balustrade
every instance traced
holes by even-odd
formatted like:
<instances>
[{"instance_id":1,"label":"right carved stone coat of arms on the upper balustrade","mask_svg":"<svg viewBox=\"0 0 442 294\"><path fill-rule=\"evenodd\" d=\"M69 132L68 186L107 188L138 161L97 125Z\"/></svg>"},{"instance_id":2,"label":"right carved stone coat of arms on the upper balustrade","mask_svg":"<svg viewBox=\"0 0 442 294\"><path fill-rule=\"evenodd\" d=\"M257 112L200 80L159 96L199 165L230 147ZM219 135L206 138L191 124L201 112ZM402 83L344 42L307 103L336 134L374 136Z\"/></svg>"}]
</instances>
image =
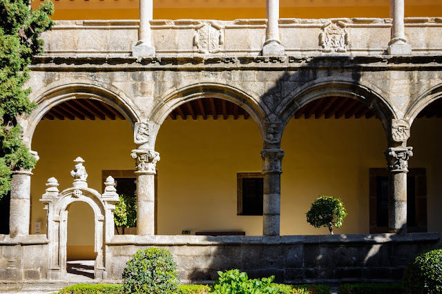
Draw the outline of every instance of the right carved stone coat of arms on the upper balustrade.
<instances>
[{"instance_id":1,"label":"right carved stone coat of arms on the upper balustrade","mask_svg":"<svg viewBox=\"0 0 442 294\"><path fill-rule=\"evenodd\" d=\"M349 42L349 34L337 23L327 23L323 26L323 31L319 35L320 45L323 52L346 52Z\"/></svg>"}]
</instances>

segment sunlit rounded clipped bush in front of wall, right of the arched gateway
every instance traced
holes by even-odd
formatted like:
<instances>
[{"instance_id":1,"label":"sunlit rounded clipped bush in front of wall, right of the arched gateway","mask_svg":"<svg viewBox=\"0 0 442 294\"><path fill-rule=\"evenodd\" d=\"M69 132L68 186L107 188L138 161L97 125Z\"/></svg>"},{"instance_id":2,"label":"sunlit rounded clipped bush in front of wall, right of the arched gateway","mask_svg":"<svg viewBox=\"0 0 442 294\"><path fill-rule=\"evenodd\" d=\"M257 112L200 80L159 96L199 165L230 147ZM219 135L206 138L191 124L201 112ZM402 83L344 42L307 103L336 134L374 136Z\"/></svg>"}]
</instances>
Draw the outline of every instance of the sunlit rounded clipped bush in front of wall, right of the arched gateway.
<instances>
[{"instance_id":1,"label":"sunlit rounded clipped bush in front of wall, right of the arched gateway","mask_svg":"<svg viewBox=\"0 0 442 294\"><path fill-rule=\"evenodd\" d=\"M178 276L172 254L162 248L137 251L126 263L122 288L125 293L175 293Z\"/></svg>"}]
</instances>

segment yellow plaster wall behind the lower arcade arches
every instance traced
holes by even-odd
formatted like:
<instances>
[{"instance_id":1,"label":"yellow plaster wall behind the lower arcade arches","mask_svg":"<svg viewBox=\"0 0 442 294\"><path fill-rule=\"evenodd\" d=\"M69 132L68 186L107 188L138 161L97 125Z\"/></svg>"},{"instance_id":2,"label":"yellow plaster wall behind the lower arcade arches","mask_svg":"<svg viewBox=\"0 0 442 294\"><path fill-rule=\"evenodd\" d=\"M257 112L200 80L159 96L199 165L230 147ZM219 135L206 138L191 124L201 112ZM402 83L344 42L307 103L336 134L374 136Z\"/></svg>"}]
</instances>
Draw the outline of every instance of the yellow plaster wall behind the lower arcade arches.
<instances>
[{"instance_id":1,"label":"yellow plaster wall behind the lower arcade arches","mask_svg":"<svg viewBox=\"0 0 442 294\"><path fill-rule=\"evenodd\" d=\"M441 125L441 119L417 119L409 142L415 151L410 167L427 169L428 229L440 233L442 156L437 146L442 139L434 134ZM32 176L31 227L36 221L45 227L46 213L38 199L48 177L59 179L60 190L68 188L72 160L81 156L86 160L89 186L101 192L103 169L133 169L132 142L127 121L41 121L32 141L32 150L41 159ZM252 119L166 119L155 147L161 157L157 164L158 234L175 235L183 230L262 234L262 217L236 215L236 174L260 172L261 148ZM282 235L328 233L305 221L311 202L321 193L343 199L349 213L336 233L369 233L369 168L386 166L382 153L387 145L379 121L293 119L285 129L282 148ZM81 233L74 231L73 238L82 240Z\"/></svg>"}]
</instances>

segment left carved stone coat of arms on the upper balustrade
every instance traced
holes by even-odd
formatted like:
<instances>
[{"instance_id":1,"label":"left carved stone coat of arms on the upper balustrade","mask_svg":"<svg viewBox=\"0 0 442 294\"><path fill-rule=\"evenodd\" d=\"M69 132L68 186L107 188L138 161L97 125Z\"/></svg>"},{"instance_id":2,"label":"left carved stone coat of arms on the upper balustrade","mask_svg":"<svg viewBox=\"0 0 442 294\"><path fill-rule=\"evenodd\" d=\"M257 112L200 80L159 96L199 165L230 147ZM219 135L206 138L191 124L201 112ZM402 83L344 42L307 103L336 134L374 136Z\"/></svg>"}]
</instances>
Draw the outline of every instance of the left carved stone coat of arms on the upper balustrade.
<instances>
[{"instance_id":1,"label":"left carved stone coat of arms on the upper balustrade","mask_svg":"<svg viewBox=\"0 0 442 294\"><path fill-rule=\"evenodd\" d=\"M200 53L216 53L222 50L224 35L221 27L215 23L201 23L195 28L193 46L198 48Z\"/></svg>"}]
</instances>

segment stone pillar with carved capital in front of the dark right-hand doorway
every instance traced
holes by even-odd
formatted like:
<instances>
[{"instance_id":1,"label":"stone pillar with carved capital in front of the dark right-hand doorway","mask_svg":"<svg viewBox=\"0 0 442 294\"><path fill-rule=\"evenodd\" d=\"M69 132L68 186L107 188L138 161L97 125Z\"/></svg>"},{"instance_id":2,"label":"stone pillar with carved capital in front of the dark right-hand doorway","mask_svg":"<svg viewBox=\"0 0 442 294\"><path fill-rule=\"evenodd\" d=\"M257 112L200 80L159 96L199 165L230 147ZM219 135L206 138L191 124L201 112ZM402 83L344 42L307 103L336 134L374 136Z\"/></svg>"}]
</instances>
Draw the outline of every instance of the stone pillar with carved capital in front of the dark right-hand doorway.
<instances>
[{"instance_id":1,"label":"stone pillar with carved capital in front of the dark right-hand doorway","mask_svg":"<svg viewBox=\"0 0 442 294\"><path fill-rule=\"evenodd\" d=\"M407 233L407 172L412 147L385 150L388 162L388 231Z\"/></svg>"}]
</instances>

